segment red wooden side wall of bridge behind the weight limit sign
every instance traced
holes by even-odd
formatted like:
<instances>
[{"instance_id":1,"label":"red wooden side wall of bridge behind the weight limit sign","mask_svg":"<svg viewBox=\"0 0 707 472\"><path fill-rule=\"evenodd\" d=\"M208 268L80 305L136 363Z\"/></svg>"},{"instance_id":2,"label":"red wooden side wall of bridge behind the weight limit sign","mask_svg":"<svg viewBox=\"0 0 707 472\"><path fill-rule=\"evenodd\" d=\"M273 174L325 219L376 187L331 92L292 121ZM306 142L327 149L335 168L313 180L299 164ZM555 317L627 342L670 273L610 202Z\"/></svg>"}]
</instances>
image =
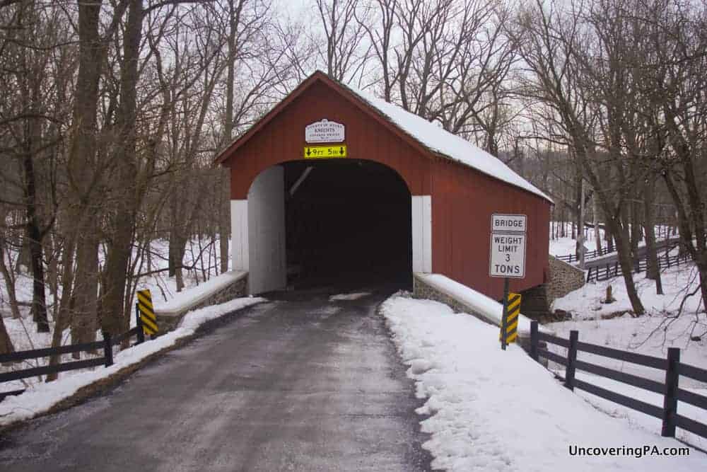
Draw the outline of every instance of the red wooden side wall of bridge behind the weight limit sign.
<instances>
[{"instance_id":1,"label":"red wooden side wall of bridge behind the weight limit sign","mask_svg":"<svg viewBox=\"0 0 707 472\"><path fill-rule=\"evenodd\" d=\"M549 202L448 160L438 159L432 175L432 272L501 299L503 279L489 277L491 214L526 214L525 278L511 279L510 289L544 282Z\"/></svg>"}]
</instances>

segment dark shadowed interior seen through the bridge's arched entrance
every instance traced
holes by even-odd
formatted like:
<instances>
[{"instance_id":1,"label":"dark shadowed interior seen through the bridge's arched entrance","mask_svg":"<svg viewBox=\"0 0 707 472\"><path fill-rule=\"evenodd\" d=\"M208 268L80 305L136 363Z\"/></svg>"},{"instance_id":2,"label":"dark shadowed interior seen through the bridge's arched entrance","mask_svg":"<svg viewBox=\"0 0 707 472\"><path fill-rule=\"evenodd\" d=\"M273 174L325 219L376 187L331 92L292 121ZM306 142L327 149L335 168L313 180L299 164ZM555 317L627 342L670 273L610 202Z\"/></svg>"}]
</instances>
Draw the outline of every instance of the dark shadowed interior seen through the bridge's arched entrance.
<instances>
[{"instance_id":1,"label":"dark shadowed interior seen through the bridge's arched entrance","mask_svg":"<svg viewBox=\"0 0 707 472\"><path fill-rule=\"evenodd\" d=\"M284 168L288 285L411 287L411 197L395 171L355 159Z\"/></svg>"}]
</instances>

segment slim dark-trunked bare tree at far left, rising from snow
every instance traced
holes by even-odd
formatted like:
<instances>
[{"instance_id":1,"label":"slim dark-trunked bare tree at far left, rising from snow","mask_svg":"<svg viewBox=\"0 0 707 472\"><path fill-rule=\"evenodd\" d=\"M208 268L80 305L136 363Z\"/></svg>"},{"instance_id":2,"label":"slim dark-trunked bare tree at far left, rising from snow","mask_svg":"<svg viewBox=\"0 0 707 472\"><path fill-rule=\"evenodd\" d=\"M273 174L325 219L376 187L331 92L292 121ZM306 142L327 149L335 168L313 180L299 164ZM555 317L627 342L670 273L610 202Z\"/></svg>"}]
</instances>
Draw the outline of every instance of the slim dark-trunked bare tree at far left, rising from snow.
<instances>
[{"instance_id":1,"label":"slim dark-trunked bare tree at far left, rising from snow","mask_svg":"<svg viewBox=\"0 0 707 472\"><path fill-rule=\"evenodd\" d=\"M56 213L53 172L64 119L63 81L49 74L54 57L61 54L68 39L57 8L38 8L35 1L8 6L0 11L0 18L7 32L0 39L0 75L4 84L12 84L16 91L0 105L0 139L4 142L0 154L15 161L19 169L18 175L5 173L0 180L21 189L21 197L16 195L11 203L25 212L23 248L28 249L33 277L32 313L37 330L49 332L42 241L52 229ZM69 74L70 65L64 65Z\"/></svg>"}]
</instances>

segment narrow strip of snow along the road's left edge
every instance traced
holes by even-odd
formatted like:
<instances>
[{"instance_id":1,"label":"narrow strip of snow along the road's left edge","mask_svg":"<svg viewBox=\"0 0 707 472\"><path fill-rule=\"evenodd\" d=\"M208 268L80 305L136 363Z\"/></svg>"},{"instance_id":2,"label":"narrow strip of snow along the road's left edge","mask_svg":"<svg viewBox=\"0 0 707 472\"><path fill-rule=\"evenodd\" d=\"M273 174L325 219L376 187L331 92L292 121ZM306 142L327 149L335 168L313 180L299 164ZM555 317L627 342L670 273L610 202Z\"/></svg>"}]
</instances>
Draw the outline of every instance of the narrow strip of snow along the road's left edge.
<instances>
[{"instance_id":1,"label":"narrow strip of snow along the road's left edge","mask_svg":"<svg viewBox=\"0 0 707 472\"><path fill-rule=\"evenodd\" d=\"M19 396L8 396L4 401L0 402L0 425L28 420L35 417L35 415L45 413L53 405L64 400L64 398L74 395L79 388L93 384L93 382L100 379L106 379L120 369L136 364L145 357L163 350L165 347L174 345L180 338L186 338L194 334L197 328L206 323L206 321L262 301L265 301L265 299L246 297L190 311L182 319L180 327L176 330L155 340L146 341L141 345L118 352L114 357L115 364L111 367L97 367L95 370L87 372L67 372L62 374L59 380L49 384L33 384L25 393Z\"/></svg>"}]
</instances>

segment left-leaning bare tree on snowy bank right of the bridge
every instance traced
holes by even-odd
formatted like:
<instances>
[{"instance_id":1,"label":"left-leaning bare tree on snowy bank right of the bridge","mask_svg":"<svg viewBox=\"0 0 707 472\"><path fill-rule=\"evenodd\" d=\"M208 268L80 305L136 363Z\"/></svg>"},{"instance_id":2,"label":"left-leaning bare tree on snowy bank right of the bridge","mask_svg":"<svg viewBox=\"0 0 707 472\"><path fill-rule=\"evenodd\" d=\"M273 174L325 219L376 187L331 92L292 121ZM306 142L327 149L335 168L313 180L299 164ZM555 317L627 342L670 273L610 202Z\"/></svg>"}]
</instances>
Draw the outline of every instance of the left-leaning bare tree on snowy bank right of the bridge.
<instances>
[{"instance_id":1,"label":"left-leaning bare tree on snowy bank right of the bridge","mask_svg":"<svg viewBox=\"0 0 707 472\"><path fill-rule=\"evenodd\" d=\"M527 64L530 93L543 100L559 116L563 136L571 147L578 168L595 189L607 227L617 242L619 264L634 313L645 312L633 282L629 226L623 210L636 175L629 174L631 160L622 153L621 117L624 102L621 87L621 56L610 50L592 59L590 52L606 52L580 21L581 11L562 11L556 3L537 1L520 14L520 54ZM612 23L614 31L619 25ZM612 40L618 40L612 35ZM602 61L607 57L605 61ZM587 67L588 65L591 67ZM595 96L596 94L596 96ZM595 101L596 100L596 101ZM595 103L599 105L595 105ZM601 148L605 151L601 151ZM609 169L611 178L604 178ZM636 179L636 180L634 180Z\"/></svg>"}]
</instances>

